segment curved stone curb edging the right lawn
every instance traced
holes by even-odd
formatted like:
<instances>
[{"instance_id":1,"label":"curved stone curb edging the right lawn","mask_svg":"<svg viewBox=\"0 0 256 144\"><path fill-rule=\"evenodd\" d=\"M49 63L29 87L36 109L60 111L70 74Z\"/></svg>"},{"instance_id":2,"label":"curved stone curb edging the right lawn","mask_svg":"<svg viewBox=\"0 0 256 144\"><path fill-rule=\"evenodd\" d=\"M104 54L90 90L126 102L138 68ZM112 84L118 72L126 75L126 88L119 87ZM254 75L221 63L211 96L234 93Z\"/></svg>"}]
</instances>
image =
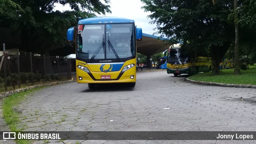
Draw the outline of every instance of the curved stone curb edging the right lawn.
<instances>
[{"instance_id":1,"label":"curved stone curb edging the right lawn","mask_svg":"<svg viewBox=\"0 0 256 144\"><path fill-rule=\"evenodd\" d=\"M210 86L226 86L226 87L236 87L236 88L256 88L256 85L251 84L222 84L218 82L201 82L196 80L190 80L188 78L185 79L185 81L196 83L196 84L207 84Z\"/></svg>"}]
</instances>

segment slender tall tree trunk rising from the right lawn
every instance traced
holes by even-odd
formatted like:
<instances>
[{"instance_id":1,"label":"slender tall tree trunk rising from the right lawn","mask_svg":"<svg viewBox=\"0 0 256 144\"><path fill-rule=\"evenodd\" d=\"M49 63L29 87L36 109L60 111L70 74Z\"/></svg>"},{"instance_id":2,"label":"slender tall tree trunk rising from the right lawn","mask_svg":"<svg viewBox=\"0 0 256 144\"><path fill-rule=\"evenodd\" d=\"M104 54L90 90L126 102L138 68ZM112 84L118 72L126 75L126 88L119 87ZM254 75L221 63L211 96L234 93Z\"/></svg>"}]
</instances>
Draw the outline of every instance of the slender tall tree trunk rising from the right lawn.
<instances>
[{"instance_id":1,"label":"slender tall tree trunk rising from the right lawn","mask_svg":"<svg viewBox=\"0 0 256 144\"><path fill-rule=\"evenodd\" d=\"M237 0L234 0L234 24L235 24L235 61L234 61L234 74L241 74L240 60L239 60L239 41L238 41L238 11Z\"/></svg>"}]
</instances>

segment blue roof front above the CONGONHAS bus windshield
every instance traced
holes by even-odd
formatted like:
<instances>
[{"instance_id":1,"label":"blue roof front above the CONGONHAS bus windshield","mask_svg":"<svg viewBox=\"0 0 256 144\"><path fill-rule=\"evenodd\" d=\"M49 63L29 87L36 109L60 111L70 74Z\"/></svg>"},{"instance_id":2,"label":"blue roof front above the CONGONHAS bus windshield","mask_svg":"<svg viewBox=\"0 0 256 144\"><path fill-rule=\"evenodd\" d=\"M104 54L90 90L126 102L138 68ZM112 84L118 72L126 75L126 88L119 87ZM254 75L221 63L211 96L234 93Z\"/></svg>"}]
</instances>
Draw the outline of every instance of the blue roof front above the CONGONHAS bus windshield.
<instances>
[{"instance_id":1,"label":"blue roof front above the CONGONHAS bus windshield","mask_svg":"<svg viewBox=\"0 0 256 144\"><path fill-rule=\"evenodd\" d=\"M134 20L129 18L121 18L114 16L103 16L85 18L78 21L78 24L110 24L110 23L134 23Z\"/></svg>"}]
</instances>

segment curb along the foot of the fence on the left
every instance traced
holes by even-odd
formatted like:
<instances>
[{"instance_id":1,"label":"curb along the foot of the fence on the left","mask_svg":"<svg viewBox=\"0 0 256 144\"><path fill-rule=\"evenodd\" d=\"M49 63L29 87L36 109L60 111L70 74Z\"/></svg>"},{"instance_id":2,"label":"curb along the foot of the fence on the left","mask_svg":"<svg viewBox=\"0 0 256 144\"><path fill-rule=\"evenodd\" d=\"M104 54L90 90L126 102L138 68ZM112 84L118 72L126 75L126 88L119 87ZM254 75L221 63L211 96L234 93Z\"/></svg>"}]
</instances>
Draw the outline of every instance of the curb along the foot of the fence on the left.
<instances>
[{"instance_id":1,"label":"curb along the foot of the fence on the left","mask_svg":"<svg viewBox=\"0 0 256 144\"><path fill-rule=\"evenodd\" d=\"M20 88L20 89L17 89L17 90L11 90L11 91L8 91L8 92L4 92L2 94L0 94L0 100L3 99L3 98L6 98L12 94L16 94L16 93L19 93L19 92L24 92L24 91L27 91L27 90L31 90L31 89L34 89L34 88L38 88L38 87L41 87L41 86L52 86L52 85L56 85L56 84L65 84L65 83L70 83L70 82L73 82L73 78L72 80L65 80L65 81L59 81L59 82L50 82L50 83L45 83L45 84L38 84L38 85L35 85L35 86L29 86L29 87L26 87L26 88Z\"/></svg>"}]
</instances>

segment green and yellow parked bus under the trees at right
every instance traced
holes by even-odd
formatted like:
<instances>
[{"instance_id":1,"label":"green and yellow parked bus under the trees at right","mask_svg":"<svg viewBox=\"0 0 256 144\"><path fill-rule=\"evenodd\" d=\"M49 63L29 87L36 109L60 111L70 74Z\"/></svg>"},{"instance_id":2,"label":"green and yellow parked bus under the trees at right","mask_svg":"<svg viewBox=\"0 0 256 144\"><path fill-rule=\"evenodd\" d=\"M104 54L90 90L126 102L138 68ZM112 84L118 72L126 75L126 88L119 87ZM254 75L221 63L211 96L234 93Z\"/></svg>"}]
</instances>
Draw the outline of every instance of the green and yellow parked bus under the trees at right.
<instances>
[{"instance_id":1,"label":"green and yellow parked bus under the trees at right","mask_svg":"<svg viewBox=\"0 0 256 144\"><path fill-rule=\"evenodd\" d=\"M180 74L196 74L209 72L212 59L209 57L192 56L180 48L180 44L170 46L167 55L167 73L178 76Z\"/></svg>"}]
</instances>

